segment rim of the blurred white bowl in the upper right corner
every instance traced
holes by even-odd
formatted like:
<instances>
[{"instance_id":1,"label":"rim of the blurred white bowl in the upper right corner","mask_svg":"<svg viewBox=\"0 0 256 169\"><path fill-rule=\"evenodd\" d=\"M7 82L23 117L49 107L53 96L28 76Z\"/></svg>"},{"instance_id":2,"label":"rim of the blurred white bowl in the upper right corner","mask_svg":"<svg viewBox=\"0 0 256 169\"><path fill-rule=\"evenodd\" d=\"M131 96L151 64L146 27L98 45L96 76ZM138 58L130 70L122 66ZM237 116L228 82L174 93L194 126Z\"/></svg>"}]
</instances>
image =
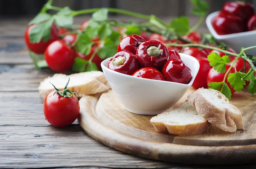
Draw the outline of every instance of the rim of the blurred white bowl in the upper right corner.
<instances>
[{"instance_id":1,"label":"rim of the blurred white bowl in the upper right corner","mask_svg":"<svg viewBox=\"0 0 256 169\"><path fill-rule=\"evenodd\" d=\"M210 33L213 35L213 37L215 37L215 39L228 39L228 38L233 38L233 37L243 37L244 35L254 35L254 34L256 34L256 31L245 31L245 32L239 32L239 33L227 34L227 35L219 35L219 34L217 34L217 32L215 31L215 29L212 26L212 19L218 13L220 13L220 11L212 12L206 18L207 27L208 27Z\"/></svg>"}]
</instances>

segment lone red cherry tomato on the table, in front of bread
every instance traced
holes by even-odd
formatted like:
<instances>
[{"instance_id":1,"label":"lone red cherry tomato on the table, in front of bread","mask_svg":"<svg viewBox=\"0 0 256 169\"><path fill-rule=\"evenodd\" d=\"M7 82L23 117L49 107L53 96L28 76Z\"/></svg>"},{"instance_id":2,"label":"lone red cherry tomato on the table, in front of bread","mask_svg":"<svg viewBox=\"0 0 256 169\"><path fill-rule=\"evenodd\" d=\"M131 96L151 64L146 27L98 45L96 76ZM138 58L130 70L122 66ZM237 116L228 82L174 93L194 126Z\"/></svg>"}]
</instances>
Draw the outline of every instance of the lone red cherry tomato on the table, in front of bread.
<instances>
[{"instance_id":1,"label":"lone red cherry tomato on the table, in front of bread","mask_svg":"<svg viewBox=\"0 0 256 169\"><path fill-rule=\"evenodd\" d=\"M53 90L44 99L45 119L56 127L72 124L79 115L80 107L77 97L59 96Z\"/></svg>"}]
</instances>

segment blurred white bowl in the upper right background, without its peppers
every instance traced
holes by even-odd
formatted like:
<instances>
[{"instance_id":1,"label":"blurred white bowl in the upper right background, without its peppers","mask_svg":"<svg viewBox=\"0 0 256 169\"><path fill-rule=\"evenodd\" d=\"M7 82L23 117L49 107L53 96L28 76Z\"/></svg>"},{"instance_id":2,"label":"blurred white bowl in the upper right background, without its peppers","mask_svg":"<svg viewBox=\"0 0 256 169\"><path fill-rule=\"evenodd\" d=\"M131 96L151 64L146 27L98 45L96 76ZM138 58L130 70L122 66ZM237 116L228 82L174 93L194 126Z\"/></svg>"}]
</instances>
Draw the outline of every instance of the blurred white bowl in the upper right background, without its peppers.
<instances>
[{"instance_id":1,"label":"blurred white bowl in the upper right background, without its peppers","mask_svg":"<svg viewBox=\"0 0 256 169\"><path fill-rule=\"evenodd\" d=\"M212 19L220 11L209 14L206 18L206 25L212 34L212 36L220 42L225 43L230 48L233 48L236 52L241 50L241 47L247 48L256 45L256 31L240 32L236 34L218 35L212 27ZM247 54L255 55L256 48L246 51Z\"/></svg>"}]
</instances>

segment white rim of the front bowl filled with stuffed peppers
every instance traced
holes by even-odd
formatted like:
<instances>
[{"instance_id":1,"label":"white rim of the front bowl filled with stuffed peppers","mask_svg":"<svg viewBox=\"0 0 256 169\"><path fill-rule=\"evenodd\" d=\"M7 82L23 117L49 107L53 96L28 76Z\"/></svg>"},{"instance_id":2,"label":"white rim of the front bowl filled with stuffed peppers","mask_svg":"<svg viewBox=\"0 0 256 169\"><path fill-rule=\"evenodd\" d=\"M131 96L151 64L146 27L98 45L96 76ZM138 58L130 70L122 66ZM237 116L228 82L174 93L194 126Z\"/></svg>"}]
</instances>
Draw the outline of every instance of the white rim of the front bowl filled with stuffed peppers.
<instances>
[{"instance_id":1,"label":"white rim of the front bowl filled with stuffed peppers","mask_svg":"<svg viewBox=\"0 0 256 169\"><path fill-rule=\"evenodd\" d=\"M193 84L193 82L194 82L194 80L195 80L195 77L197 76L197 74L198 74L198 71L199 71L199 68L200 68L200 64L199 64L199 62L198 62L198 60L197 59L195 59L195 57L193 57L193 56L190 56L190 55L187 55L187 54L182 54L182 53L179 53L180 55L183 55L183 56L185 56L185 57L187 57L187 58L189 58L189 59L191 59L191 60L193 60L196 64L197 64L197 69L195 69L195 76L192 76L192 79L191 79L191 81L189 82L189 84L183 84L183 83L177 83L177 82L169 82L169 81L162 81L162 80L154 80L154 79L145 79L145 78L140 78L140 80L144 80L145 82L160 82L160 83L166 83L166 84L174 84L174 85L181 85L181 86L184 86L184 87L190 87L192 84ZM105 68L105 70L109 70L109 71L111 71L112 73L117 73L117 74L119 74L119 75L121 75L121 76L126 76L127 78L132 78L132 79L134 79L134 78L138 78L138 77L135 77L135 76L131 76L131 75L126 75L126 74L123 74L123 73L119 73L119 72L116 72L116 71L114 71L114 70L111 70L111 69L109 69L108 67L106 67L105 65L104 65L104 63L105 62L108 62L109 60L111 59L111 57L110 58L107 58L107 59L105 59L105 60L103 60L102 62L101 62L101 67L102 67L102 69L103 69L103 67Z\"/></svg>"}]
</instances>

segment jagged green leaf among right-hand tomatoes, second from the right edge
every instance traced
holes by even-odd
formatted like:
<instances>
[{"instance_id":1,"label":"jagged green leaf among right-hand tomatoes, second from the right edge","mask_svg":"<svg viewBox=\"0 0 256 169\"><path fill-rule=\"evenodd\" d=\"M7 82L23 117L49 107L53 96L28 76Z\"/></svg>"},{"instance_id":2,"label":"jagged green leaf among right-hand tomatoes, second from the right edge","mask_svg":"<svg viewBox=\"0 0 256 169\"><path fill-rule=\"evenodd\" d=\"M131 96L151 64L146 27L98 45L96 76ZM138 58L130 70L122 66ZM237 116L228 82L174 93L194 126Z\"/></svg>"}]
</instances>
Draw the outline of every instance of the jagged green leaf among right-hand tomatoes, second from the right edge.
<instances>
[{"instance_id":1,"label":"jagged green leaf among right-hand tomatoes, second from the right edge","mask_svg":"<svg viewBox=\"0 0 256 169\"><path fill-rule=\"evenodd\" d=\"M227 82L230 82L230 86L234 87L234 90L241 92L244 88L245 81L242 78L246 75L246 73L235 72L229 73Z\"/></svg>"}]
</instances>

